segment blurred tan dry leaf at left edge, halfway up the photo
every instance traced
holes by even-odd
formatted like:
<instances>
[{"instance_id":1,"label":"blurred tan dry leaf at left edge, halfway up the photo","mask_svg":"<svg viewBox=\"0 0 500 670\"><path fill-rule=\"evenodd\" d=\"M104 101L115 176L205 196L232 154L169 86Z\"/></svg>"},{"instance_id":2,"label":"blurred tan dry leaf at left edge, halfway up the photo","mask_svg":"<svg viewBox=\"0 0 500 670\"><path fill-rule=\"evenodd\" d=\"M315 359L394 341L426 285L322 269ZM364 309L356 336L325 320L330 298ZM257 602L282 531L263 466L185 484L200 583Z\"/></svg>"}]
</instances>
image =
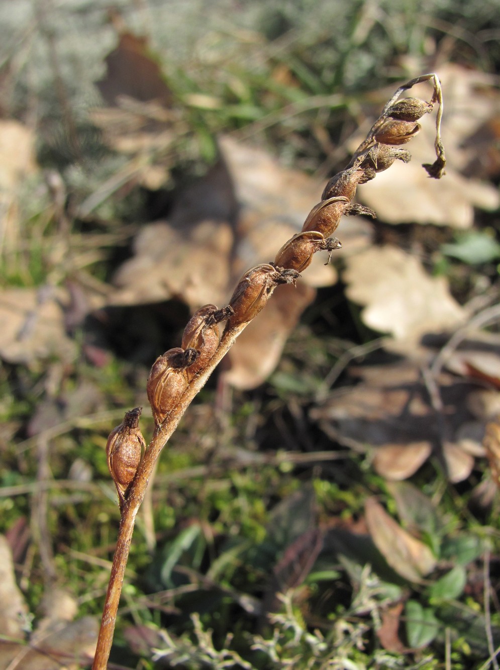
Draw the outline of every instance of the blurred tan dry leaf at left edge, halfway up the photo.
<instances>
[{"instance_id":1,"label":"blurred tan dry leaf at left edge, halfway up the photo","mask_svg":"<svg viewBox=\"0 0 500 670\"><path fill-rule=\"evenodd\" d=\"M29 364L37 358L70 358L74 343L66 336L62 291L7 288L0 291L0 356Z\"/></svg>"}]
</instances>

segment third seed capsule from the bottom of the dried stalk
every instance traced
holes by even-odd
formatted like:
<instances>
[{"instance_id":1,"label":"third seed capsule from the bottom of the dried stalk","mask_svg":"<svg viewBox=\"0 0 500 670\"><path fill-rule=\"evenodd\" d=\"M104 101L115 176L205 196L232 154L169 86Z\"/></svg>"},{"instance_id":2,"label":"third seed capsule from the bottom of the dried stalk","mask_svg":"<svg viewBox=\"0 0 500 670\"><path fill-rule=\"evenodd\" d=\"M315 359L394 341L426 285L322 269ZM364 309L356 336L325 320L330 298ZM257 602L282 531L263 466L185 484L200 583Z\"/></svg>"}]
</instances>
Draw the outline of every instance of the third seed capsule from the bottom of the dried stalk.
<instances>
[{"instance_id":1,"label":"third seed capsule from the bottom of the dried stalk","mask_svg":"<svg viewBox=\"0 0 500 670\"><path fill-rule=\"evenodd\" d=\"M220 341L218 324L229 318L232 313L231 308L218 310L215 305L204 305L188 321L182 335L182 347L186 350L193 348L199 354L196 361L186 368L189 380L206 367L216 352Z\"/></svg>"}]
</instances>

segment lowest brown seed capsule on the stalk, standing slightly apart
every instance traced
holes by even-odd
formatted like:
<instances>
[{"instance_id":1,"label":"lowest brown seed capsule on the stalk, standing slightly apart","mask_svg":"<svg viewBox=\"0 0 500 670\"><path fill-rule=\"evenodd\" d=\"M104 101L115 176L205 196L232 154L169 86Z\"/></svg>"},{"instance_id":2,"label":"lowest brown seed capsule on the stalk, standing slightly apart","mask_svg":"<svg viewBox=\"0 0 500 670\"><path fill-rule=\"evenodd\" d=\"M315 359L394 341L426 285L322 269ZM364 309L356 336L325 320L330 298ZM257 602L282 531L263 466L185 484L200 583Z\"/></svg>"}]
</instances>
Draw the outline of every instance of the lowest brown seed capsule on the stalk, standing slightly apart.
<instances>
[{"instance_id":1,"label":"lowest brown seed capsule on the stalk, standing slightly apart","mask_svg":"<svg viewBox=\"0 0 500 670\"><path fill-rule=\"evenodd\" d=\"M109 433L106 444L108 468L117 488L120 509L127 498L127 490L133 482L146 443L139 428L142 407L125 413L117 427Z\"/></svg>"}]
</instances>

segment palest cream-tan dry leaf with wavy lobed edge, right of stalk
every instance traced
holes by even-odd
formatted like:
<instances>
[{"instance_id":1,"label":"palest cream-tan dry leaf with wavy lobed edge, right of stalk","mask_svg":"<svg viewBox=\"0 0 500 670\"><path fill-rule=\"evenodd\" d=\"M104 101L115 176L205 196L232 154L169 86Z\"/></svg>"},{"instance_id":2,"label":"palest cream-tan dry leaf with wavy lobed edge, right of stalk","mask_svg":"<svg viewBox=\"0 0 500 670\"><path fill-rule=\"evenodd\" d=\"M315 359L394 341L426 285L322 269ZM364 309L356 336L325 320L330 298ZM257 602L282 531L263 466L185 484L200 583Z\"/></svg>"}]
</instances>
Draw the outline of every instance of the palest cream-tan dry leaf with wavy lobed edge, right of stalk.
<instances>
[{"instance_id":1,"label":"palest cream-tan dry leaf with wavy lobed edge, right of stalk","mask_svg":"<svg viewBox=\"0 0 500 670\"><path fill-rule=\"evenodd\" d=\"M372 247L347 259L343 278L349 299L365 306L363 322L391 333L391 350L411 355L424 334L465 318L446 279L430 277L416 257L396 247Z\"/></svg>"}]
</instances>

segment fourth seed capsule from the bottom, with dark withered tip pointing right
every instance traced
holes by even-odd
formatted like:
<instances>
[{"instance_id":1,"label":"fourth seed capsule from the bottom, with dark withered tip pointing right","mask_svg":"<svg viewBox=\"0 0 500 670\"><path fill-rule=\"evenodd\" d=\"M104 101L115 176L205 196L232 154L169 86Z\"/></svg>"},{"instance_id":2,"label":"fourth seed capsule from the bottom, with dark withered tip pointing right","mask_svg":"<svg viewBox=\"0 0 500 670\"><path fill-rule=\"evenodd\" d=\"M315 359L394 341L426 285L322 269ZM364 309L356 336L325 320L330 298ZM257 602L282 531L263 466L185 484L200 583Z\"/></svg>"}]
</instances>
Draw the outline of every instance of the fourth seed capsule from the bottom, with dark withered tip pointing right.
<instances>
[{"instance_id":1,"label":"fourth seed capsule from the bottom, with dark withered tip pointing right","mask_svg":"<svg viewBox=\"0 0 500 670\"><path fill-rule=\"evenodd\" d=\"M229 317L228 326L251 321L263 309L278 284L294 284L298 276L294 270L278 270L267 263L253 267L241 277L229 300L234 314Z\"/></svg>"}]
</instances>

